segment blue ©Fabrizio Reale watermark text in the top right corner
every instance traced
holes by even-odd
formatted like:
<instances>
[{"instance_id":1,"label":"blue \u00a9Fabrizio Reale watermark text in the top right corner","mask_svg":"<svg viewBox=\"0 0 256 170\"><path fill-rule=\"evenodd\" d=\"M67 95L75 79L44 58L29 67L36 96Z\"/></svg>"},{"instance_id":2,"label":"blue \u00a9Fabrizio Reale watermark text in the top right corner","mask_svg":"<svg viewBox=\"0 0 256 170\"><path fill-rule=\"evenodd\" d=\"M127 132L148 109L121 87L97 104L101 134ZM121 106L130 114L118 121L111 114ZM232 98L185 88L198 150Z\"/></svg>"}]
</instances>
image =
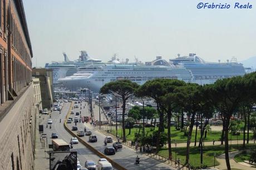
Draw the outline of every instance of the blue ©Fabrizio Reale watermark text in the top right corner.
<instances>
[{"instance_id":1,"label":"blue \u00a9Fabrizio Reale watermark text in the top right corner","mask_svg":"<svg viewBox=\"0 0 256 170\"><path fill-rule=\"evenodd\" d=\"M239 2L235 2L233 4L228 3L208 3L208 2L200 2L196 6L198 9L252 9L253 5L249 2L246 4L241 4Z\"/></svg>"}]
</instances>

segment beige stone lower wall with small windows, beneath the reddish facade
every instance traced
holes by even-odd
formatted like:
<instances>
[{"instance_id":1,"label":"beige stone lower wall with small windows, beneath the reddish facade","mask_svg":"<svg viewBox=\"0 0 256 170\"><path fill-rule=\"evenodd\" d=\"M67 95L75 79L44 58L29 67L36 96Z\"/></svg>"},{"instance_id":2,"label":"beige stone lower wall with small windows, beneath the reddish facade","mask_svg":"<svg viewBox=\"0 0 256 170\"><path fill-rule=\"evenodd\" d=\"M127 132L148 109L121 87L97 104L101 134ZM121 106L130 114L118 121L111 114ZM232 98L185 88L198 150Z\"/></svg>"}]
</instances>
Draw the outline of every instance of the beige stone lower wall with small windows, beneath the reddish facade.
<instances>
[{"instance_id":1,"label":"beige stone lower wall with small windows, beneath the reddish facade","mask_svg":"<svg viewBox=\"0 0 256 170\"><path fill-rule=\"evenodd\" d=\"M32 84L0 122L0 169L34 169L35 124Z\"/></svg>"}]
</instances>

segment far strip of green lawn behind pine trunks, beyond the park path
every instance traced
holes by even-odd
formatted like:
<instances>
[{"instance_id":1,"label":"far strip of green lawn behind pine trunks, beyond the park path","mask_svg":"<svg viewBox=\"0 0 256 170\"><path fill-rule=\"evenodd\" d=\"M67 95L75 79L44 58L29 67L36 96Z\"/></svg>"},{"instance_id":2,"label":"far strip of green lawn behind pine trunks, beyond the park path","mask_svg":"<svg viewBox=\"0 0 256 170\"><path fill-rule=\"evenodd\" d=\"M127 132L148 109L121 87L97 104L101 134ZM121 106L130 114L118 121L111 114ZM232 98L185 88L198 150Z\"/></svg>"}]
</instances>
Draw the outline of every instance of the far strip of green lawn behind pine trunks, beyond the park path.
<instances>
[{"instance_id":1,"label":"far strip of green lawn behind pine trunks, beyond the park path","mask_svg":"<svg viewBox=\"0 0 256 170\"><path fill-rule=\"evenodd\" d=\"M157 127L155 128L155 131L157 131ZM151 131L151 128L145 128L145 135L150 135L153 131ZM167 129L165 129L165 132L167 133ZM116 134L116 130L113 127L112 134ZM118 135L121 137L122 136L122 131L121 129L117 130ZM126 133L126 139L128 141L132 141L134 139L134 134L135 133L139 133L139 128L132 128L131 129L131 134L129 134L129 129L125 129L125 133ZM140 134L142 133L142 128L140 129ZM127 135L129 134L129 135ZM205 138L205 141L213 141L213 139L215 141L219 141L220 140L220 136L221 136L221 132L220 131L211 131L210 133L207 133L207 136ZM250 138L252 138L253 134L250 133L249 134ZM231 138L231 135L229 134L229 139ZM243 139L243 133L240 133L239 136L232 136L233 140L236 139L242 140ZM179 130L176 130L175 127L171 127L171 139L175 139L175 141L179 142L186 142L187 137L184 136L184 132L181 132ZM200 129L198 129L198 135L196 137L196 141L199 141L200 139ZM192 137L191 137L191 142L194 142L195 140L195 130L193 130L192 133Z\"/></svg>"}]
</instances>

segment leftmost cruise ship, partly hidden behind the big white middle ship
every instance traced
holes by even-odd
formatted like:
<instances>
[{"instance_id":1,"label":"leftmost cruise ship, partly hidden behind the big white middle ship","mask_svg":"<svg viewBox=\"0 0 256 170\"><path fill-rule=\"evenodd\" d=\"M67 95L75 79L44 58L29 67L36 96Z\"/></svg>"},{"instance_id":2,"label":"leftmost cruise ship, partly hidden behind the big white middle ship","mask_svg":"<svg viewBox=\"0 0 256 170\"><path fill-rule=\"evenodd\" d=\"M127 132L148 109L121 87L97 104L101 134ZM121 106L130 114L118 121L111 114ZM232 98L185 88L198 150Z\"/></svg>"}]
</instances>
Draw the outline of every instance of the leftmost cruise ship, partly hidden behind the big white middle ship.
<instances>
[{"instance_id":1,"label":"leftmost cruise ship, partly hidden behind the big white middle ship","mask_svg":"<svg viewBox=\"0 0 256 170\"><path fill-rule=\"evenodd\" d=\"M87 64L99 64L100 59L93 59L88 56L86 51L80 51L81 55L75 61L70 61L66 53L63 53L64 62L46 63L45 68L51 68L53 72L53 84L57 83L59 78L72 76L78 71L79 67L86 66Z\"/></svg>"}]
</instances>

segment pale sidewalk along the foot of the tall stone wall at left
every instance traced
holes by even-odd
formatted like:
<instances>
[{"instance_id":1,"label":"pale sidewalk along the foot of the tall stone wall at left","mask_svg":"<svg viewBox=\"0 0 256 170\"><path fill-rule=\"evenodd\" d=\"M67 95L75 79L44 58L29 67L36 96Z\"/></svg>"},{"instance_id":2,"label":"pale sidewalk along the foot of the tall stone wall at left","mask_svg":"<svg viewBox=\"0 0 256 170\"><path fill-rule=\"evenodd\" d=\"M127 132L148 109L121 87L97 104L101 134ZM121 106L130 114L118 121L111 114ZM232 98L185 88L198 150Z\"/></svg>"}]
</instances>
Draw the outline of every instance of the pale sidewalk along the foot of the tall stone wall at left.
<instances>
[{"instance_id":1,"label":"pale sidewalk along the foot of the tall stone wall at left","mask_svg":"<svg viewBox=\"0 0 256 170\"><path fill-rule=\"evenodd\" d=\"M41 118L39 118L41 116ZM45 147L40 142L40 133L38 129L38 124L40 121L42 122L45 119L45 115L38 115L36 116L36 154L35 154L35 169L50 169L50 161L49 161L49 155L47 152L45 152ZM43 140L42 140L43 141Z\"/></svg>"}]
</instances>

